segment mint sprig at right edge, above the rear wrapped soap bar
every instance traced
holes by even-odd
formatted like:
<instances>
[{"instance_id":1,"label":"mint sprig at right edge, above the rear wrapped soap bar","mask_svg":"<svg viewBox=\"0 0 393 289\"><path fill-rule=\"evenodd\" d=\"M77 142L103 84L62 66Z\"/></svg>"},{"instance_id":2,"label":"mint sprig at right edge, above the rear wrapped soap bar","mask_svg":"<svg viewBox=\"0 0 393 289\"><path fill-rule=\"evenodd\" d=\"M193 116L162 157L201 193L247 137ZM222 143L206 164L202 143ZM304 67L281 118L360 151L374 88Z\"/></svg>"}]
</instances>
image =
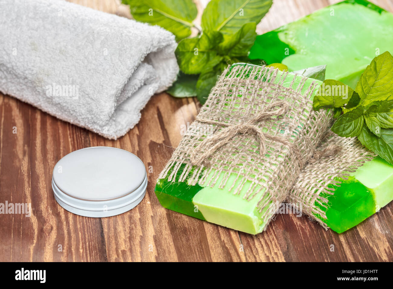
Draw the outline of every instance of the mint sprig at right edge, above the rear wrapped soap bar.
<instances>
[{"instance_id":1,"label":"mint sprig at right edge, above the rear wrapped soap bar","mask_svg":"<svg viewBox=\"0 0 393 289\"><path fill-rule=\"evenodd\" d=\"M323 81L313 109L334 109L332 131L357 136L360 142L393 164L393 57L376 56L360 76L356 89L340 81Z\"/></svg>"}]
</instances>

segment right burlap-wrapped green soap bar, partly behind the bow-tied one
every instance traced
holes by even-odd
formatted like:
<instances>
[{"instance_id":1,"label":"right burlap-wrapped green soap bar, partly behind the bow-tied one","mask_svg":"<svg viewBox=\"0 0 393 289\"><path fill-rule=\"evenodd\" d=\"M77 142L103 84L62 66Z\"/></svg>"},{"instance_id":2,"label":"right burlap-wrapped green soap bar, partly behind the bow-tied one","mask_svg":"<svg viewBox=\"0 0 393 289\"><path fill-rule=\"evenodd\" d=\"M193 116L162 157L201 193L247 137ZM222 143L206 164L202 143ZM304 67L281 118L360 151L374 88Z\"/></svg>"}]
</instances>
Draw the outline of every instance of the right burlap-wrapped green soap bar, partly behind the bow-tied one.
<instances>
[{"instance_id":1,"label":"right burlap-wrapped green soap bar, partly behind the bow-tied one","mask_svg":"<svg viewBox=\"0 0 393 289\"><path fill-rule=\"evenodd\" d=\"M356 138L330 134L318 150L332 145L341 150L308 164L288 202L322 226L342 233L392 201L393 166Z\"/></svg>"}]
</instances>

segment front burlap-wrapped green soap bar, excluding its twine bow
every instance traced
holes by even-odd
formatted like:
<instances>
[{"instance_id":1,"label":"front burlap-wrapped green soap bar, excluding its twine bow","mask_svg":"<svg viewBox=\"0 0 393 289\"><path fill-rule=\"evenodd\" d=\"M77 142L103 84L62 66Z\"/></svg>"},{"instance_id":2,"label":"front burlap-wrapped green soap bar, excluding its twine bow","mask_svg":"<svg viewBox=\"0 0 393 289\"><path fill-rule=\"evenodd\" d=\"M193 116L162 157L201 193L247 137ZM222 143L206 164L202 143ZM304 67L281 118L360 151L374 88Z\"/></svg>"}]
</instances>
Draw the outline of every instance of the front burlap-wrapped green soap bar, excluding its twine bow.
<instances>
[{"instance_id":1,"label":"front burlap-wrapped green soap bar, excluding its twine bow","mask_svg":"<svg viewBox=\"0 0 393 289\"><path fill-rule=\"evenodd\" d=\"M224 100L220 103L222 107L214 107L213 111L218 110L218 115L222 119L237 120L230 117L233 112L240 112L241 118L244 116L252 118L255 114L253 109L266 105L266 100L277 101L286 98L285 100L291 103L294 99L298 101L305 98L307 101L303 103L304 107L301 105L305 110L300 109L300 115L293 114L286 120L300 117L294 130L290 128L290 123L283 120L274 124L275 132L271 132L265 123L259 123L258 127L261 127L263 133L290 135L294 144L301 144L303 147L301 156L303 160L307 160L331 117L326 112L315 114L309 107L316 93L314 88L318 87L321 81L251 65L237 71L232 70L231 77L228 78L225 77L225 73L228 71L223 73L216 87L213 88L201 112L212 110L217 103L216 98L220 97ZM269 75L272 73L276 76L269 80ZM240 81L241 79L244 81ZM226 89L224 93L222 87ZM286 91L291 95L289 98ZM250 101L257 101L257 105L252 105ZM291 105L296 110L299 104L291 103ZM199 114L197 120L202 116ZM270 122L277 119L273 117ZM278 151L274 149L274 145L269 145L268 152L261 158L259 140L253 135L238 134L237 138L240 138L240 141L236 141L236 138L231 139L227 146L219 148L214 153L211 157L213 161L210 159L202 167L192 166L189 162L189 151L195 149L195 145L190 145L190 142L195 137L207 138L204 135L192 134L191 131L195 129L193 124L189 128L189 135L184 136L157 181L155 192L158 200L165 208L211 223L250 234L263 231L275 214L277 204L272 201L272 198L278 204L281 203L286 197L284 191L293 184L288 180L299 173L296 160L288 159L288 151L282 145L276 146ZM212 137L215 133L217 133L216 129L208 137ZM242 169L250 174L244 174ZM194 180L195 175L200 177ZM280 195L280 192L283 193Z\"/></svg>"}]
</instances>

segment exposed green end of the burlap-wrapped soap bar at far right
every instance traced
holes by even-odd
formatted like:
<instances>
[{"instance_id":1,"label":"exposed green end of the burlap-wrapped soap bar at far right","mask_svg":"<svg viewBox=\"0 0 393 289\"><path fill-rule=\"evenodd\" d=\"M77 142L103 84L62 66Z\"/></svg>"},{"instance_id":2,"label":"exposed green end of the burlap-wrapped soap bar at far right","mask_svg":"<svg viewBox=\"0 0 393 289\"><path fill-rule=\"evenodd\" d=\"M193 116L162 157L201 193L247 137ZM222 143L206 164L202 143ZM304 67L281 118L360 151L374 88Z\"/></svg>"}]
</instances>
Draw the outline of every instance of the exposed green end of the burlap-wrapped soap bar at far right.
<instances>
[{"instance_id":1,"label":"exposed green end of the burlap-wrapped soap bar at far right","mask_svg":"<svg viewBox=\"0 0 393 289\"><path fill-rule=\"evenodd\" d=\"M332 188L334 195L325 195L329 202L328 209L324 209L327 217L324 221L332 230L342 233L392 201L393 166L376 157Z\"/></svg>"}]
</instances>

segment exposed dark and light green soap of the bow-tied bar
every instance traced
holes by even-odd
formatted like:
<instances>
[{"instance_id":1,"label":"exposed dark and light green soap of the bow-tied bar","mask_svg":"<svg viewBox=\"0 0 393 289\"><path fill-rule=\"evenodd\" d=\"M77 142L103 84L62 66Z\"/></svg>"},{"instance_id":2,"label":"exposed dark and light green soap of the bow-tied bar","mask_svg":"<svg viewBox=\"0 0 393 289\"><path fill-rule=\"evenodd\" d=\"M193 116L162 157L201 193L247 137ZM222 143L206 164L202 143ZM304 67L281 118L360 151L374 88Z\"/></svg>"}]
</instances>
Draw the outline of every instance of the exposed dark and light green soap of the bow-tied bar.
<instances>
[{"instance_id":1,"label":"exposed dark and light green soap of the bow-tied bar","mask_svg":"<svg viewBox=\"0 0 393 289\"><path fill-rule=\"evenodd\" d=\"M283 72L278 71L277 75L282 73ZM289 87L294 77L294 74L288 74L282 85L284 87ZM302 78L301 75L296 76L294 87L301 83ZM275 82L277 81L279 81L279 77L276 78ZM303 94L313 81L318 84L322 83L321 81L307 78L303 86ZM315 93L316 91L314 91L314 94ZM314 94L310 97L313 98ZM182 168L178 170L178 177L181 172ZM221 173L218 176L213 187L202 187L199 185L191 186L186 182L168 182L167 180L160 179L156 184L155 193L160 204L170 210L250 234L262 232L266 226L266 223L261 218L264 211L262 210L262 212L259 212L256 207L264 191L261 190L250 200L243 199L251 182L247 181L240 193L234 195L233 192L230 191L230 188L236 180L237 174L232 173L224 188L219 188L224 175L225 173ZM207 176L205 184L208 184L209 180L213 178L217 178L214 170ZM239 182L240 178L237 183ZM234 188L237 183L235 183ZM266 194L266 198L268 198L268 194Z\"/></svg>"}]
</instances>

